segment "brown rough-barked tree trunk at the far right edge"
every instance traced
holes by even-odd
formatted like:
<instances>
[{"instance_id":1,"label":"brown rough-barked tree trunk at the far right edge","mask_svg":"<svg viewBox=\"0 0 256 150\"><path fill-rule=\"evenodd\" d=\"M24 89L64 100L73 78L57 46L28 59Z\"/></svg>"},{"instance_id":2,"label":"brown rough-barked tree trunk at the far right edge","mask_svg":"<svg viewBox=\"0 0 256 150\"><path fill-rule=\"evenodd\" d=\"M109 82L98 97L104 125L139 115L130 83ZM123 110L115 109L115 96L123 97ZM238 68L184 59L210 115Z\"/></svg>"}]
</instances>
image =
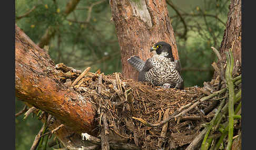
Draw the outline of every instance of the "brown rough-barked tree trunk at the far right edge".
<instances>
[{"instance_id":1,"label":"brown rough-barked tree trunk at the far right edge","mask_svg":"<svg viewBox=\"0 0 256 150\"><path fill-rule=\"evenodd\" d=\"M241 26L241 0L232 0L229 5L228 20L226 23L226 28L224 31L223 39L220 47L220 54L223 62L226 62L225 52L228 51L233 45L233 55L234 55L234 65L237 60L241 61L241 36L242 36L242 26ZM221 63L223 63L221 62ZM220 62L219 62L220 63ZM216 72L214 73L214 78L216 78Z\"/></svg>"}]
</instances>

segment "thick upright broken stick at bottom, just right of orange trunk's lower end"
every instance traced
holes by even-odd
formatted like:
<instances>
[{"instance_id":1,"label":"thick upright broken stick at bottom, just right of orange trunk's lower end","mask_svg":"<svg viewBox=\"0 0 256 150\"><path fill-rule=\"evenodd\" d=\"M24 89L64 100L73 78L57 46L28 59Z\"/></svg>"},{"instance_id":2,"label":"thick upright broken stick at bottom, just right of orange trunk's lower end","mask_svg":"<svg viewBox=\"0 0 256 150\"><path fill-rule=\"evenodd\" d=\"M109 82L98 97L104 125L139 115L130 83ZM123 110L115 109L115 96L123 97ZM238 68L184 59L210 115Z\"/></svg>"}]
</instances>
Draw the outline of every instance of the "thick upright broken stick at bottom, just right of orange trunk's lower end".
<instances>
[{"instance_id":1,"label":"thick upright broken stick at bottom, just right of orange trunk's lower end","mask_svg":"<svg viewBox=\"0 0 256 150\"><path fill-rule=\"evenodd\" d=\"M103 122L103 126L101 128L101 149L109 150L110 149L109 124L107 124L105 113L103 113L102 122Z\"/></svg>"}]
</instances>

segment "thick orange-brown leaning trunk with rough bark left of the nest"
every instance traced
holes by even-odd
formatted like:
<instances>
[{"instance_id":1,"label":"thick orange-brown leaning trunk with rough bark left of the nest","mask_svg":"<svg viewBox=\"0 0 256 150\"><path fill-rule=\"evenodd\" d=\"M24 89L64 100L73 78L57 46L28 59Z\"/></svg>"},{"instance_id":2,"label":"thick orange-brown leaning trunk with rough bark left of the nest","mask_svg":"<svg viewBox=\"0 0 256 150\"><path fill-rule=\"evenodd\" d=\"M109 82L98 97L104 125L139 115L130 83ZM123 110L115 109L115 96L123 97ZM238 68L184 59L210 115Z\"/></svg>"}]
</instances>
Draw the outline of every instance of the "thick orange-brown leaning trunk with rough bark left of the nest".
<instances>
[{"instance_id":1,"label":"thick orange-brown leaning trunk with rough bark left of the nest","mask_svg":"<svg viewBox=\"0 0 256 150\"><path fill-rule=\"evenodd\" d=\"M81 94L58 82L58 70L54 67L46 51L15 26L16 97L52 114L76 132L94 134L93 105Z\"/></svg>"}]
</instances>

